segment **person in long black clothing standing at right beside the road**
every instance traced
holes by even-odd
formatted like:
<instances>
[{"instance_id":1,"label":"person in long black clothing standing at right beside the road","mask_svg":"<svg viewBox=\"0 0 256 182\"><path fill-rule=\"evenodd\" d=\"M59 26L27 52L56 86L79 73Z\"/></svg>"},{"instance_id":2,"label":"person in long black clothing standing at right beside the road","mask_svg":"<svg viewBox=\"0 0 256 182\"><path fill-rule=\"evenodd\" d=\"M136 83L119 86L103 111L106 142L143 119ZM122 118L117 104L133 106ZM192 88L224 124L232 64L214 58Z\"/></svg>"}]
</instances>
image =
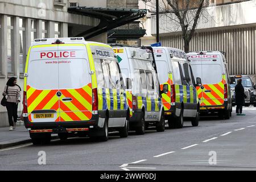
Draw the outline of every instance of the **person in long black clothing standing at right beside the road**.
<instances>
[{"instance_id":1,"label":"person in long black clothing standing at right beside the road","mask_svg":"<svg viewBox=\"0 0 256 182\"><path fill-rule=\"evenodd\" d=\"M237 115L245 115L242 114L242 108L245 105L245 89L242 85L242 79L237 80L237 85L235 87L235 95L236 95L236 113Z\"/></svg>"}]
</instances>

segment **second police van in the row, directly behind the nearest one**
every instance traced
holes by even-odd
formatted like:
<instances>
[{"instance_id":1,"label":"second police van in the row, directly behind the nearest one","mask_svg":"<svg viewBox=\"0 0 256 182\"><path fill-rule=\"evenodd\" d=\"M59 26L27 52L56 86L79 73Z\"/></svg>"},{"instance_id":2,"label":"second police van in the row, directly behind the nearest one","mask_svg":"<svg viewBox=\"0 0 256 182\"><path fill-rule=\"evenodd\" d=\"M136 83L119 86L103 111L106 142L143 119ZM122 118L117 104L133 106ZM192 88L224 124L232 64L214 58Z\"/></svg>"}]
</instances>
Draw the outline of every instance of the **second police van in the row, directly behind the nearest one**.
<instances>
[{"instance_id":1,"label":"second police van in the row, directly behind the nearest one","mask_svg":"<svg viewBox=\"0 0 256 182\"><path fill-rule=\"evenodd\" d=\"M156 131L165 129L162 96L157 71L153 67L152 48L144 48L113 48L122 76L131 82L131 100L129 102L132 104L133 113L129 121L130 130L135 130L137 134L142 135L145 133L146 127L149 126L155 126ZM165 90L165 92L167 91Z\"/></svg>"}]
</instances>

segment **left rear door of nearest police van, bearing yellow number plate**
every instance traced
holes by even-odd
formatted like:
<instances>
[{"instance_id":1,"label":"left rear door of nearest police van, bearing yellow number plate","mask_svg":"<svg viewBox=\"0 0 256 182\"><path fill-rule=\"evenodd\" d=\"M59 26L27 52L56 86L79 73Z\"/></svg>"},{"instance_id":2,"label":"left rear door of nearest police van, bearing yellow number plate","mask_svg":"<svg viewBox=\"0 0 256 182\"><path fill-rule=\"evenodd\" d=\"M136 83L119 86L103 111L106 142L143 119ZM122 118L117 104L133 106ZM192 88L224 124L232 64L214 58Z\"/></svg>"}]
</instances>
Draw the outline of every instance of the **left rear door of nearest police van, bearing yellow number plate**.
<instances>
[{"instance_id":1,"label":"left rear door of nearest police van, bearing yellow number plate","mask_svg":"<svg viewBox=\"0 0 256 182\"><path fill-rule=\"evenodd\" d=\"M26 90L30 122L59 121L57 45L33 46L30 51Z\"/></svg>"}]
</instances>

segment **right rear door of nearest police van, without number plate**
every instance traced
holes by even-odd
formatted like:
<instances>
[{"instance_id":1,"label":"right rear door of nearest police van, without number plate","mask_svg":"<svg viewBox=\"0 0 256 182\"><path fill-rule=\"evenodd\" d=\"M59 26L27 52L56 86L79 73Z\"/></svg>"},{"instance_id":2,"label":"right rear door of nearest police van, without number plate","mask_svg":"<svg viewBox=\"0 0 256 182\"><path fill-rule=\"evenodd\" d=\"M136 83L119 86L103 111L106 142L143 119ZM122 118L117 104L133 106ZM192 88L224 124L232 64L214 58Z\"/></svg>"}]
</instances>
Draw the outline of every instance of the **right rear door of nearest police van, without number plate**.
<instances>
[{"instance_id":1,"label":"right rear door of nearest police van, without number plate","mask_svg":"<svg viewBox=\"0 0 256 182\"><path fill-rule=\"evenodd\" d=\"M60 121L92 118L92 84L84 44L59 44Z\"/></svg>"}]
</instances>

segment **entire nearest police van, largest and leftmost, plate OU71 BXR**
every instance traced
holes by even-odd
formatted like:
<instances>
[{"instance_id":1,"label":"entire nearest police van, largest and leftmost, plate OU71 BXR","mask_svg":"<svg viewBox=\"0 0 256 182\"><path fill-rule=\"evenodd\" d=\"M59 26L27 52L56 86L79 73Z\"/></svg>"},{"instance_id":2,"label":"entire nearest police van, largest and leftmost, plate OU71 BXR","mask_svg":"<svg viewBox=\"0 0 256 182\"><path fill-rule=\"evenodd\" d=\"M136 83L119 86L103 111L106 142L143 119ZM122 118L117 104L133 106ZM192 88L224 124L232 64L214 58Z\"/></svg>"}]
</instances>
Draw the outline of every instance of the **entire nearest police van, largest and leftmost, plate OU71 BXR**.
<instances>
[{"instance_id":1,"label":"entire nearest police van, largest and leftmost, plate OU71 BXR","mask_svg":"<svg viewBox=\"0 0 256 182\"><path fill-rule=\"evenodd\" d=\"M51 134L67 139L127 137L129 107L113 49L84 38L35 39L24 73L23 117L34 144Z\"/></svg>"}]
</instances>

